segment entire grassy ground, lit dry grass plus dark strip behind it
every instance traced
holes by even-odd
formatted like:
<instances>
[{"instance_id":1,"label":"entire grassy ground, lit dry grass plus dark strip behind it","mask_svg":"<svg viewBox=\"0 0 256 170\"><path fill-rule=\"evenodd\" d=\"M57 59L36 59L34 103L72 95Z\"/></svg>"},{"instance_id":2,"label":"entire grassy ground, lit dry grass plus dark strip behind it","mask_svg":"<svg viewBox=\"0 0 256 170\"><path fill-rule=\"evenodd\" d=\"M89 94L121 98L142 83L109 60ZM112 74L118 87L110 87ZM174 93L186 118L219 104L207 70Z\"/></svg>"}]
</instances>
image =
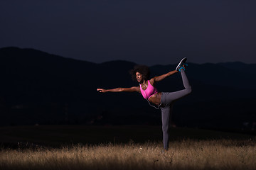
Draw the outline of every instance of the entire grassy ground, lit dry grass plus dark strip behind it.
<instances>
[{"instance_id":1,"label":"entire grassy ground, lit dry grass plus dark strip behind it","mask_svg":"<svg viewBox=\"0 0 256 170\"><path fill-rule=\"evenodd\" d=\"M0 128L0 169L256 169L255 136L158 126Z\"/></svg>"}]
</instances>

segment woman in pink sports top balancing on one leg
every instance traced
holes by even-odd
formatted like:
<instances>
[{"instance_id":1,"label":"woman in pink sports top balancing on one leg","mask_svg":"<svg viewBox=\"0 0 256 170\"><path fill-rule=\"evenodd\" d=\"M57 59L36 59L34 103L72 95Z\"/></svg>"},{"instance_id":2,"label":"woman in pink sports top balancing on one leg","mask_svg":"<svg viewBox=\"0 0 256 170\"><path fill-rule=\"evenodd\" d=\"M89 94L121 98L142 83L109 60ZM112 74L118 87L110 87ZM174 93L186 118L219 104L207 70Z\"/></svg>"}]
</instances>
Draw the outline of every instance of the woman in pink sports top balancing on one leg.
<instances>
[{"instance_id":1,"label":"woman in pink sports top balancing on one leg","mask_svg":"<svg viewBox=\"0 0 256 170\"><path fill-rule=\"evenodd\" d=\"M155 108L161 108L161 120L162 120L162 130L163 130L163 142L164 149L168 150L169 148L169 118L171 115L171 108L173 106L174 101L178 98L182 98L191 93L191 86L188 82L188 79L185 74L185 66L186 66L186 57L179 62L176 70L168 72L158 77L153 77L149 79L149 67L146 66L135 66L131 71L132 78L137 80L139 86L133 86L130 88L116 88L116 89L97 89L102 93L105 92L121 92L121 91L137 91L142 96L149 101L149 104L154 104ZM185 89L181 91L175 91L171 93L159 92L157 91L155 84L158 81L165 79L166 77L171 76L177 72L181 72L181 77L183 81L183 86ZM152 106L152 105L151 105ZM157 107L156 107L157 106Z\"/></svg>"}]
</instances>

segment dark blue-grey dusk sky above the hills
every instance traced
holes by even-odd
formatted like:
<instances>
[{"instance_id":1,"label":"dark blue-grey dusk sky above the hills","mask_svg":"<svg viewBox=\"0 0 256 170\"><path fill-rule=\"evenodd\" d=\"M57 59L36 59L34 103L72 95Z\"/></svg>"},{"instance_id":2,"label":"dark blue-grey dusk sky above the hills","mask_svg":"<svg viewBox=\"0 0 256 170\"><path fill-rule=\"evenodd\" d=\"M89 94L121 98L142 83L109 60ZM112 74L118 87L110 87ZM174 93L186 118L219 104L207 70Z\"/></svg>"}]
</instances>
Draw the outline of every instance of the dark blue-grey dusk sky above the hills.
<instances>
[{"instance_id":1,"label":"dark blue-grey dusk sky above the hills","mask_svg":"<svg viewBox=\"0 0 256 170\"><path fill-rule=\"evenodd\" d=\"M0 47L96 63L256 63L255 8L255 0L1 0Z\"/></svg>"}]
</instances>

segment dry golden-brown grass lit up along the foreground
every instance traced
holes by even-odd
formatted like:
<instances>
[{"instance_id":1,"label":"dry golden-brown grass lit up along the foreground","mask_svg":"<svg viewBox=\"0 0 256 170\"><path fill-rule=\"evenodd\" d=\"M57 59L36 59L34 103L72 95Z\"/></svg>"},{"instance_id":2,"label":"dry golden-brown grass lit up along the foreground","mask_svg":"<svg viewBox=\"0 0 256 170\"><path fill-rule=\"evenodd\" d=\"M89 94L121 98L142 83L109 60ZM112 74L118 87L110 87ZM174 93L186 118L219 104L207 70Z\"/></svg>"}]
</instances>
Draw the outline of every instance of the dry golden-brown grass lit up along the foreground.
<instances>
[{"instance_id":1,"label":"dry golden-brown grass lit up along the foreground","mask_svg":"<svg viewBox=\"0 0 256 170\"><path fill-rule=\"evenodd\" d=\"M253 140L183 140L1 149L0 169L256 169Z\"/></svg>"}]
</instances>

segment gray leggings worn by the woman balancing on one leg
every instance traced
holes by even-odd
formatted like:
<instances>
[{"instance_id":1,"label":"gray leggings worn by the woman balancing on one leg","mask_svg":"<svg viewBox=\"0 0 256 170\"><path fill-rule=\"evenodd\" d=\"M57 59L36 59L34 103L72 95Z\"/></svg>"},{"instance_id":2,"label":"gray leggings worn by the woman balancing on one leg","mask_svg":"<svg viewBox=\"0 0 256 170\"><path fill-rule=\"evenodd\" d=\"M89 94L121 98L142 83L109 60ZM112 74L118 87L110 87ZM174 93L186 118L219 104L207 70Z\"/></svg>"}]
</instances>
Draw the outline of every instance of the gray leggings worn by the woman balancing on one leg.
<instances>
[{"instance_id":1,"label":"gray leggings worn by the woman balancing on one leg","mask_svg":"<svg viewBox=\"0 0 256 170\"><path fill-rule=\"evenodd\" d=\"M163 92L161 94L161 119L162 119L162 130L163 130L163 142L164 142L164 149L169 148L169 118L171 115L171 111L173 108L174 101L183 96L186 96L191 93L191 86L188 82L188 78L183 70L181 70L181 77L183 81L183 86L185 89L181 91L175 91L171 93Z\"/></svg>"}]
</instances>

